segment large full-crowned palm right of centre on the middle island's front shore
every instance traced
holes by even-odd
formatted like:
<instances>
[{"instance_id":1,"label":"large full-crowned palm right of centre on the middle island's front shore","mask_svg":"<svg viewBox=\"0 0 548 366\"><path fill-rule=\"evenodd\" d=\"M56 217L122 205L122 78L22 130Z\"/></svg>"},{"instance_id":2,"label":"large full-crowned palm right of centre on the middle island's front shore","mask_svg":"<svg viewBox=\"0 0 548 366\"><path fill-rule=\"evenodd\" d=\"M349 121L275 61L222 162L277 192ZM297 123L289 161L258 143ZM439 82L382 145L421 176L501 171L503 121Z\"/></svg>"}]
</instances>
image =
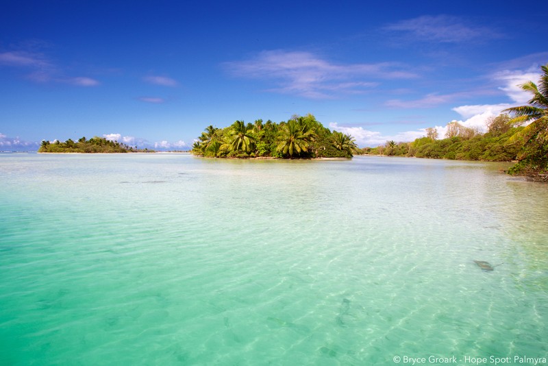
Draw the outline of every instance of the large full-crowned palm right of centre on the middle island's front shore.
<instances>
[{"instance_id":1,"label":"large full-crowned palm right of centre on the middle island's front shore","mask_svg":"<svg viewBox=\"0 0 548 366\"><path fill-rule=\"evenodd\" d=\"M281 126L279 132L279 143L276 150L282 154L301 154L308 151L308 146L316 139L316 132L307 123L303 123L302 117L297 121L290 119L288 123Z\"/></svg>"}]
</instances>

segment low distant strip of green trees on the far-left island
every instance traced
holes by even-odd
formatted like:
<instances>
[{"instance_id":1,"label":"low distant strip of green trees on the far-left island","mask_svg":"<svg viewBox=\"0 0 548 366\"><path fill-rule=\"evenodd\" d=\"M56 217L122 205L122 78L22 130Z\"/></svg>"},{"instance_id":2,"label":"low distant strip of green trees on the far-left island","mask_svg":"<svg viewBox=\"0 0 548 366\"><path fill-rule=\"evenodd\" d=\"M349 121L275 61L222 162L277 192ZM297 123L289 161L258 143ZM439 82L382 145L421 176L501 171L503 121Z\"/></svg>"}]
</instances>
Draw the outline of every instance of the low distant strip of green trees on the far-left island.
<instances>
[{"instance_id":1,"label":"low distant strip of green trees on the far-left island","mask_svg":"<svg viewBox=\"0 0 548 366\"><path fill-rule=\"evenodd\" d=\"M38 149L39 153L127 153L127 152L154 152L149 149L137 149L121 144L117 141L109 141L103 137L93 137L86 140L85 137L78 141L71 138L64 143L55 140L53 143L42 141Z\"/></svg>"}]
</instances>

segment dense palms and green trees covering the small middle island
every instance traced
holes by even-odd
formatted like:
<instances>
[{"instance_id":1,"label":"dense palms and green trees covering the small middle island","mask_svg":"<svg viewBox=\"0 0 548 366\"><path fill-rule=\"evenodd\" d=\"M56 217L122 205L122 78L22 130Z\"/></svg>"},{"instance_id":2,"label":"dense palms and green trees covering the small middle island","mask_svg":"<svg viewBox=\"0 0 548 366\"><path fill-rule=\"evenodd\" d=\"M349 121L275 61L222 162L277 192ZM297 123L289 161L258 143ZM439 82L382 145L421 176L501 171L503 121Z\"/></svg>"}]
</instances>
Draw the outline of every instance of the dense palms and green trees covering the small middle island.
<instances>
[{"instance_id":1,"label":"dense palms and green trees covering the small middle island","mask_svg":"<svg viewBox=\"0 0 548 366\"><path fill-rule=\"evenodd\" d=\"M352 136L332 132L312 114L280 123L209 125L192 146L192 154L212 158L351 158L356 151Z\"/></svg>"}]
</instances>

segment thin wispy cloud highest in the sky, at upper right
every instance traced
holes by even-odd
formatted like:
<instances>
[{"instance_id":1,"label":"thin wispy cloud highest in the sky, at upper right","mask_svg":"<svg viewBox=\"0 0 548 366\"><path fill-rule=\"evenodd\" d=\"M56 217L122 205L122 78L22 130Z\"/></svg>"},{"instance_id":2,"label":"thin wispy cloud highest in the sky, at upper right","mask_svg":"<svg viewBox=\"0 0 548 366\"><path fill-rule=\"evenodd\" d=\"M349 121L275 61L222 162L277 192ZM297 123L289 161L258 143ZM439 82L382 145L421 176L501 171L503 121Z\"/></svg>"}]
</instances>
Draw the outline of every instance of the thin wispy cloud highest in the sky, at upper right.
<instances>
[{"instance_id":1,"label":"thin wispy cloud highest in the sky, at upper right","mask_svg":"<svg viewBox=\"0 0 548 366\"><path fill-rule=\"evenodd\" d=\"M472 40L499 38L500 35L487 27L466 25L456 16L419 16L418 18L399 21L384 27L393 32L404 32L412 40L458 43Z\"/></svg>"}]
</instances>

